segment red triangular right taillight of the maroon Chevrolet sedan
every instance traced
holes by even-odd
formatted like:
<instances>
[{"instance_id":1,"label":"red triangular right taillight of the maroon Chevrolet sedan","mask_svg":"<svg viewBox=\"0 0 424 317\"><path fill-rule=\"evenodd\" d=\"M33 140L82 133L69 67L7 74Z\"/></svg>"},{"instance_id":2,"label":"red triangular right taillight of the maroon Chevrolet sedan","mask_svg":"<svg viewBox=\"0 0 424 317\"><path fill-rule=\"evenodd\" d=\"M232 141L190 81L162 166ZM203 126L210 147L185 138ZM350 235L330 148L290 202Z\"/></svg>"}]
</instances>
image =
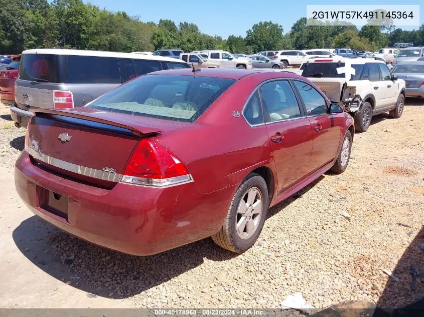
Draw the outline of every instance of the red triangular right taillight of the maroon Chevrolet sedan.
<instances>
[{"instance_id":1,"label":"red triangular right taillight of the maroon Chevrolet sedan","mask_svg":"<svg viewBox=\"0 0 424 317\"><path fill-rule=\"evenodd\" d=\"M186 166L153 139L143 139L138 143L121 179L123 183L156 187L191 181Z\"/></svg>"}]
</instances>

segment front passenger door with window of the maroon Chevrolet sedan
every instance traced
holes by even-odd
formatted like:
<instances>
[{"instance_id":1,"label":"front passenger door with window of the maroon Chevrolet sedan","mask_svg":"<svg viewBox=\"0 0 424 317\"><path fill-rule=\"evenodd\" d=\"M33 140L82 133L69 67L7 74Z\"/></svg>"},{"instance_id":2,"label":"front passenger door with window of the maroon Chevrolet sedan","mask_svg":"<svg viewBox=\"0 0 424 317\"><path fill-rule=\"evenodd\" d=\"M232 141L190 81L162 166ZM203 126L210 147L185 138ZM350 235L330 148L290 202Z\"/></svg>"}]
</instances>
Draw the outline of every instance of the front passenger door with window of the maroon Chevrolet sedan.
<instances>
[{"instance_id":1,"label":"front passenger door with window of the maroon Chevrolet sedan","mask_svg":"<svg viewBox=\"0 0 424 317\"><path fill-rule=\"evenodd\" d=\"M306 82L294 80L296 89L305 105L312 128L312 156L310 170L316 170L331 162L337 155L341 139L338 122L345 120L344 113L329 114L326 99Z\"/></svg>"}]
</instances>

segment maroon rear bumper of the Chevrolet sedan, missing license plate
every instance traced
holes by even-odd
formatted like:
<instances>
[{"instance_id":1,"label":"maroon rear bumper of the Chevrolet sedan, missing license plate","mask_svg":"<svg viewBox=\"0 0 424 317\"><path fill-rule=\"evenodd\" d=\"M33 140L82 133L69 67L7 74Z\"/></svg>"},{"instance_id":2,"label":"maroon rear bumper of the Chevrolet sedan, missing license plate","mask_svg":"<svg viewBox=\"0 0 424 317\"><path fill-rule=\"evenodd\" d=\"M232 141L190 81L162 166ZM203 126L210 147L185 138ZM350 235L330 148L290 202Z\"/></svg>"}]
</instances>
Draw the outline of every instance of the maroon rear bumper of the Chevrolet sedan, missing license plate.
<instances>
[{"instance_id":1,"label":"maroon rear bumper of the Chevrolet sedan, missing license plate","mask_svg":"<svg viewBox=\"0 0 424 317\"><path fill-rule=\"evenodd\" d=\"M16 190L36 215L89 242L150 255L216 233L233 188L202 195L193 182L169 188L117 183L112 189L75 182L33 164L24 150L15 166ZM65 217L43 207L40 191L68 197Z\"/></svg>"}]
</instances>

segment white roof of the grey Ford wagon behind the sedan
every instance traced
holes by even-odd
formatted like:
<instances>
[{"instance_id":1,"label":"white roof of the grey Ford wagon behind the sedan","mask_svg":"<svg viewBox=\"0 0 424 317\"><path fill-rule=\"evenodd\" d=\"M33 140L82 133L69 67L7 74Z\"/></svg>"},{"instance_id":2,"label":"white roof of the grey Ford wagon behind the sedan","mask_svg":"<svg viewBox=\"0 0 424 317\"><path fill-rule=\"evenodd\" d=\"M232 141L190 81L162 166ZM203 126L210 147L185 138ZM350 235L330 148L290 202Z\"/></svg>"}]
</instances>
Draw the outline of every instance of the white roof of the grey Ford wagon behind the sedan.
<instances>
[{"instance_id":1,"label":"white roof of the grey Ford wagon behind the sedan","mask_svg":"<svg viewBox=\"0 0 424 317\"><path fill-rule=\"evenodd\" d=\"M172 57L133 54L133 53L106 52L106 51L89 51L89 50L33 49L33 50L26 50L22 52L22 54L78 55L78 56L128 58L128 59L137 59L137 60L151 60L151 61L174 62L174 63L182 62L181 60L178 60Z\"/></svg>"}]
</instances>

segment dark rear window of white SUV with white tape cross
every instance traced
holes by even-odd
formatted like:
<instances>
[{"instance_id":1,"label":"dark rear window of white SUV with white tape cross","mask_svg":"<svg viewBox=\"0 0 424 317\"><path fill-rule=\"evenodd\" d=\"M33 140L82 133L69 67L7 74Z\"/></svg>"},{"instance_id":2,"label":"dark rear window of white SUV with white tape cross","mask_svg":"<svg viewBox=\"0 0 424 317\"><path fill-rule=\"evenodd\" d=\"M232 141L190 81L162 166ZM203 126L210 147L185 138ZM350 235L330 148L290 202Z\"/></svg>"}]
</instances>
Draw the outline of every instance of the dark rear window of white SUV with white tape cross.
<instances>
[{"instance_id":1,"label":"dark rear window of white SUV with white tape cross","mask_svg":"<svg viewBox=\"0 0 424 317\"><path fill-rule=\"evenodd\" d=\"M301 70L303 70L302 76L307 78L344 78L345 73L337 73L340 67L345 67L345 63L304 63ZM350 75L350 80L359 80L364 64L354 64L351 67L355 69L355 75Z\"/></svg>"}]
</instances>

